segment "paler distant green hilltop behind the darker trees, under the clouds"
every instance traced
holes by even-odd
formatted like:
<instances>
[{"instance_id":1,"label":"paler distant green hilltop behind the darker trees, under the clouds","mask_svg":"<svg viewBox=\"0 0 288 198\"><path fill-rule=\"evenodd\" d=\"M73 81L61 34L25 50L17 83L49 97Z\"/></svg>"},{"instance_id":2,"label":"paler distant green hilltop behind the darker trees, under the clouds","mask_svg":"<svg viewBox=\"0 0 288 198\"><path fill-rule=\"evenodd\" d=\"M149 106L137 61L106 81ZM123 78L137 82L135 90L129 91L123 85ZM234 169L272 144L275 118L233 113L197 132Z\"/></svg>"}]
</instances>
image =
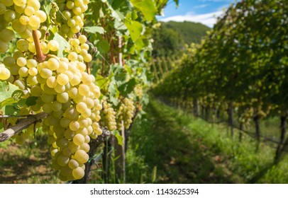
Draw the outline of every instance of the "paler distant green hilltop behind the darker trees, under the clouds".
<instances>
[{"instance_id":1,"label":"paler distant green hilltop behind the darker trees, under the clouds","mask_svg":"<svg viewBox=\"0 0 288 198\"><path fill-rule=\"evenodd\" d=\"M184 43L190 44L192 42L199 43L201 37L203 37L210 28L201 23L193 23L189 21L175 22L169 21L162 23L166 28L170 28L179 33Z\"/></svg>"}]
</instances>

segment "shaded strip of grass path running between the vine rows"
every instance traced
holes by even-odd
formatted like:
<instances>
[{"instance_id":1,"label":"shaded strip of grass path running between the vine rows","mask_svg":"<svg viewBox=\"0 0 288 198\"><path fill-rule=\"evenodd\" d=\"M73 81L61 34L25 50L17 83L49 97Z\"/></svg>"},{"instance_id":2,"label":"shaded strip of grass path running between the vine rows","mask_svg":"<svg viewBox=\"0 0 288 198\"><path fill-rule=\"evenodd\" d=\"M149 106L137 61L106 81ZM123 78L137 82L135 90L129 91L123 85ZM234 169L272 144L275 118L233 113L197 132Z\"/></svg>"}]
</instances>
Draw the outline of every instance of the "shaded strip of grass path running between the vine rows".
<instances>
[{"instance_id":1,"label":"shaded strip of grass path running between the vine rows","mask_svg":"<svg viewBox=\"0 0 288 198\"><path fill-rule=\"evenodd\" d=\"M150 170L157 167L156 182L241 182L223 163L226 156L217 148L208 148L199 136L190 132L191 117L154 100L148 106L148 116L134 127L131 144L136 154L145 158Z\"/></svg>"}]
</instances>

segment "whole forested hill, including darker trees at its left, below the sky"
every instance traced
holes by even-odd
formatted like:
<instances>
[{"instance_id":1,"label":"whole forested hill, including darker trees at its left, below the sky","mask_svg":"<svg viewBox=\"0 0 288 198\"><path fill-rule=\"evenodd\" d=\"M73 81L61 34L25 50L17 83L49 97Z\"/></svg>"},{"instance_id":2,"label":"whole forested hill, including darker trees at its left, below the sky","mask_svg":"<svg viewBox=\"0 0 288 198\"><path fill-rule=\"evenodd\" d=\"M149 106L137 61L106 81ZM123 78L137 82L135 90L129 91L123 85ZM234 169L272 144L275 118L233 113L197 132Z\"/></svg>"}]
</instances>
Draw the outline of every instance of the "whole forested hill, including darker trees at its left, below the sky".
<instances>
[{"instance_id":1,"label":"whole forested hill, including darker trees at its left, below the sky","mask_svg":"<svg viewBox=\"0 0 288 198\"><path fill-rule=\"evenodd\" d=\"M184 44L199 43L201 37L210 30L206 25L193 22L161 22L159 29L153 33L153 57L168 57L181 54Z\"/></svg>"}]
</instances>

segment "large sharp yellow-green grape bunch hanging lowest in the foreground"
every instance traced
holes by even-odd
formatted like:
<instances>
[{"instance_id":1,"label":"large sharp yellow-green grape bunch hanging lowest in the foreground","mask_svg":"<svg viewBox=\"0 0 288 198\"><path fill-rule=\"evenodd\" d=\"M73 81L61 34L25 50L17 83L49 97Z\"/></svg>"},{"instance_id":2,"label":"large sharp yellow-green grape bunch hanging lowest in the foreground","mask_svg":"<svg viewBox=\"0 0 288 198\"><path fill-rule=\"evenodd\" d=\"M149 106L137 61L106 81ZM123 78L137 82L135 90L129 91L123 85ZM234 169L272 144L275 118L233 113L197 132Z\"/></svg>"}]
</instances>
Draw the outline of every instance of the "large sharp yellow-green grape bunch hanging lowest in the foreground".
<instances>
[{"instance_id":1,"label":"large sharp yellow-green grape bunch hanging lowest in the foreground","mask_svg":"<svg viewBox=\"0 0 288 198\"><path fill-rule=\"evenodd\" d=\"M95 78L85 72L84 62L75 61L70 54L40 63L22 55L11 57L18 66L19 78L14 84L24 97L37 98L31 110L48 113L43 131L48 132L52 167L60 170L60 179L79 180L89 158L90 138L102 133L98 124L100 89Z\"/></svg>"}]
</instances>

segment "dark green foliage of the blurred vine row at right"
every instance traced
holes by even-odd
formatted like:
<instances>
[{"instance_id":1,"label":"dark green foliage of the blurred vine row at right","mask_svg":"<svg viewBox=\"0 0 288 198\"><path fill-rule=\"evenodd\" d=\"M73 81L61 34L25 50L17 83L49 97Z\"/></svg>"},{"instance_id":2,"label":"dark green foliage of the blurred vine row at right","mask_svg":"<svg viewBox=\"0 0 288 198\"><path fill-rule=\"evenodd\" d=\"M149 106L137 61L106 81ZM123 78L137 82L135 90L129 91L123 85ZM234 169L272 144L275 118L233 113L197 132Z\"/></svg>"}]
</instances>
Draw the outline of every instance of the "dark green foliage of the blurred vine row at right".
<instances>
[{"instance_id":1,"label":"dark green foliage of the blurred vine row at right","mask_svg":"<svg viewBox=\"0 0 288 198\"><path fill-rule=\"evenodd\" d=\"M199 107L206 114L225 112L228 124L237 122L240 129L253 122L258 146L260 120L279 117L279 161L288 146L287 27L287 1L231 4L201 44L189 47L182 64L157 84L155 95L188 103L196 115Z\"/></svg>"}]
</instances>

